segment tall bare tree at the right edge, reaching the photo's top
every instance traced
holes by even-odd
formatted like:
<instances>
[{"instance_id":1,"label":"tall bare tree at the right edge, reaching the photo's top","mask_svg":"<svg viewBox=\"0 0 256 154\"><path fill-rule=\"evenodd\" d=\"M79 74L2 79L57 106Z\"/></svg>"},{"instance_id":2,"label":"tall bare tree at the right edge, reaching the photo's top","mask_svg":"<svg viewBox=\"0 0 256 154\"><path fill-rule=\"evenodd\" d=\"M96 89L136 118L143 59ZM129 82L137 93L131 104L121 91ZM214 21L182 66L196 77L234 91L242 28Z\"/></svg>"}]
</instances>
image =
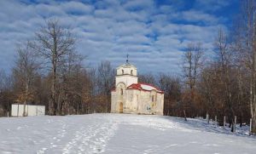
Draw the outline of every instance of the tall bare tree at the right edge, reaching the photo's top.
<instances>
[{"instance_id":1,"label":"tall bare tree at the right edge, reaching the photo's top","mask_svg":"<svg viewBox=\"0 0 256 154\"><path fill-rule=\"evenodd\" d=\"M232 30L232 50L236 58L237 82L238 82L238 99L240 100L241 118L250 111L253 117L254 99L254 78L253 75L253 37L254 35L254 12L255 1L241 1L240 14L236 16ZM253 32L254 31L254 32ZM254 76L254 77L253 77ZM250 108L248 108L248 107ZM242 121L242 120L241 120ZM248 122L248 119L247 119ZM256 128L256 127L255 127ZM256 133L256 130L254 131Z\"/></svg>"}]
</instances>

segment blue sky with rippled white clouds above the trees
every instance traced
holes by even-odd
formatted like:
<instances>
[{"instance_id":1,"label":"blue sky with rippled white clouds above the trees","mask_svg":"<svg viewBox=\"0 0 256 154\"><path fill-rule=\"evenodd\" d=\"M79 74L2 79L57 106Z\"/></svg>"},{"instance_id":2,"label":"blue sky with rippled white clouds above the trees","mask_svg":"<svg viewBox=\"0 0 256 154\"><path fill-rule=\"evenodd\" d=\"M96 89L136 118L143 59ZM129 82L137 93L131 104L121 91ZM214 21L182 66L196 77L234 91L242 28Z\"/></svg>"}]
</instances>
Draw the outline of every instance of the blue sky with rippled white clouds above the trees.
<instances>
[{"instance_id":1,"label":"blue sky with rippled white clouds above the trees","mask_svg":"<svg viewBox=\"0 0 256 154\"><path fill-rule=\"evenodd\" d=\"M238 9L238 0L2 0L0 70L14 66L17 44L57 18L79 38L87 67L101 60L116 67L130 54L140 72L177 73L186 45L202 43L210 54L218 28L229 31Z\"/></svg>"}]
</instances>

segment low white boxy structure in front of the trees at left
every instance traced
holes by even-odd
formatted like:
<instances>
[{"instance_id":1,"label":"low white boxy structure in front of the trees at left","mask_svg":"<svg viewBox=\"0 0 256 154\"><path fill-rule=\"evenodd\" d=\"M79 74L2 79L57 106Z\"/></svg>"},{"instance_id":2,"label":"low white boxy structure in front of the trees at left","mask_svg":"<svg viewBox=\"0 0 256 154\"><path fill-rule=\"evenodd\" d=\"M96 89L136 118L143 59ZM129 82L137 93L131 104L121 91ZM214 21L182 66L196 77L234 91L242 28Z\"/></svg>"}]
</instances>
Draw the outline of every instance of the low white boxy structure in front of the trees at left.
<instances>
[{"instance_id":1,"label":"low white boxy structure in front of the trees at left","mask_svg":"<svg viewBox=\"0 0 256 154\"><path fill-rule=\"evenodd\" d=\"M21 117L24 113L24 105L13 104L12 105L12 116ZM26 116L44 116L45 115L45 106L25 106Z\"/></svg>"}]
</instances>

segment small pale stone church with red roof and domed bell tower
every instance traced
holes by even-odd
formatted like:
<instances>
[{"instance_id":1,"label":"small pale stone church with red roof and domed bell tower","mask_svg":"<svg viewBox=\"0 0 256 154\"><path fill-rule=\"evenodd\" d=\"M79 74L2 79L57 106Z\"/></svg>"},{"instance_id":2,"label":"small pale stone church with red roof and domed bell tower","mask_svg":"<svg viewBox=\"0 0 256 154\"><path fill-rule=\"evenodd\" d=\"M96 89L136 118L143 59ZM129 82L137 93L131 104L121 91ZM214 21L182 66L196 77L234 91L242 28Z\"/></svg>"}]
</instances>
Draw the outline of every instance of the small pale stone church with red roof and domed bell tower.
<instances>
[{"instance_id":1,"label":"small pale stone church with red roof and domed bell tower","mask_svg":"<svg viewBox=\"0 0 256 154\"><path fill-rule=\"evenodd\" d=\"M138 83L137 68L128 60L117 67L115 88L111 91L112 113L163 115L164 92L148 83Z\"/></svg>"}]
</instances>

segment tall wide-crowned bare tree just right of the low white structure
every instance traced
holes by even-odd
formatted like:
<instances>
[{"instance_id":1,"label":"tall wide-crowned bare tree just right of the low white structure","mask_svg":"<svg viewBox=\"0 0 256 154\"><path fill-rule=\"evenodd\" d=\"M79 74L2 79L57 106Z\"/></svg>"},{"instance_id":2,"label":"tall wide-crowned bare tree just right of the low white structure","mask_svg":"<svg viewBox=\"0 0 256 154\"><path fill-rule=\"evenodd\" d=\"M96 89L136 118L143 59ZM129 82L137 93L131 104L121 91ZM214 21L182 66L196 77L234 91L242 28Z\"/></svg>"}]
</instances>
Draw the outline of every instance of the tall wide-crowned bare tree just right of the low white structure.
<instances>
[{"instance_id":1,"label":"tall wide-crowned bare tree just right of the low white structure","mask_svg":"<svg viewBox=\"0 0 256 154\"><path fill-rule=\"evenodd\" d=\"M49 114L57 113L58 80L63 61L74 50L75 38L71 31L60 26L58 20L48 20L46 26L36 32L36 41L32 47L50 63L51 95L49 97Z\"/></svg>"}]
</instances>

